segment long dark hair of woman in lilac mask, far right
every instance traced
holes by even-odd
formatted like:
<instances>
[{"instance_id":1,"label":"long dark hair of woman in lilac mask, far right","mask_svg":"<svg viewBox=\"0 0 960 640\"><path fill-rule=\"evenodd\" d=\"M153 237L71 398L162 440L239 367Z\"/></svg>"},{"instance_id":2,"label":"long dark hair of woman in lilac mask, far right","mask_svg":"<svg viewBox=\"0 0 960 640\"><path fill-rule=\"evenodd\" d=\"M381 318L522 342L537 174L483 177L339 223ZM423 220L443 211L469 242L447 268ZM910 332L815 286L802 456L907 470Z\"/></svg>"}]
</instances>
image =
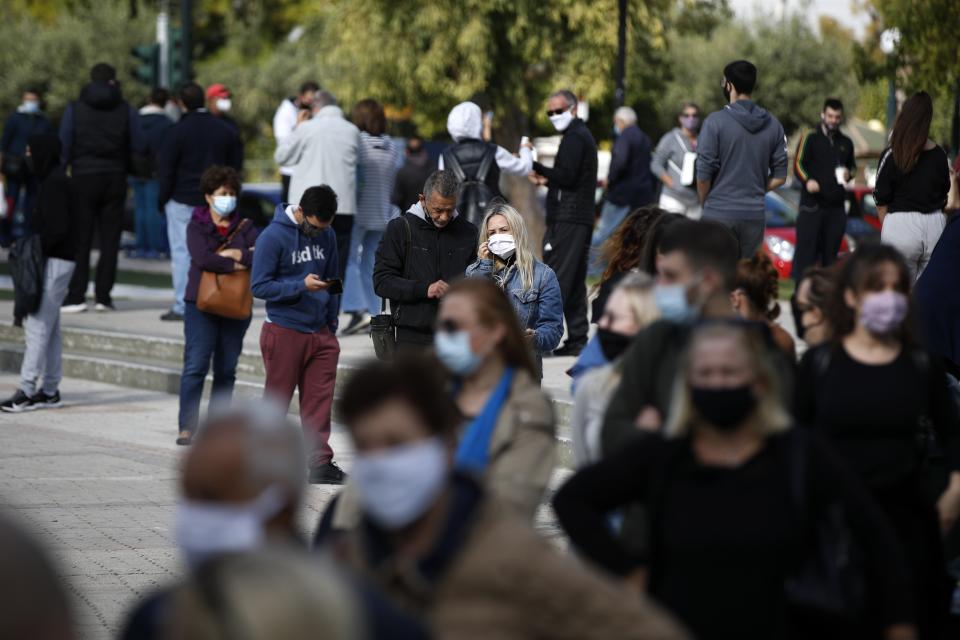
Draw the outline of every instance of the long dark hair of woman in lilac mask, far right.
<instances>
[{"instance_id":1,"label":"long dark hair of woman in lilac mask, far right","mask_svg":"<svg viewBox=\"0 0 960 640\"><path fill-rule=\"evenodd\" d=\"M905 347L917 344L914 331L914 304L910 295L912 278L903 255L887 244L864 244L848 257L840 269L837 284L827 305L827 322L833 329L833 340L839 342L853 332L857 324L857 310L847 305L846 292L854 294L879 290L882 286L880 268L892 264L897 270L896 289L907 296L907 317L893 336Z\"/></svg>"}]
</instances>

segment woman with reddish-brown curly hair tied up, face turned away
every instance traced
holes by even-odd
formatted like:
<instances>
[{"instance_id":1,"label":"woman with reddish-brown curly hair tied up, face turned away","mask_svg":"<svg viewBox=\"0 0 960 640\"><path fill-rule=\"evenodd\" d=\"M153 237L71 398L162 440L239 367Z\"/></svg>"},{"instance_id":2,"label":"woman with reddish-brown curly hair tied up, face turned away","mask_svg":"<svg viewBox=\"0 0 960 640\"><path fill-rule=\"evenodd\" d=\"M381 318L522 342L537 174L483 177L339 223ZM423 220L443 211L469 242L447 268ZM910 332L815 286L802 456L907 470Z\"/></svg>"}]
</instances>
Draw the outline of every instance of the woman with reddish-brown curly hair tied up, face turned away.
<instances>
[{"instance_id":1,"label":"woman with reddish-brown curly hair tied up, face turned away","mask_svg":"<svg viewBox=\"0 0 960 640\"><path fill-rule=\"evenodd\" d=\"M780 317L780 277L770 258L756 253L737 265L737 279L730 300L744 320L762 322L770 328L774 344L790 362L797 361L797 345L787 330L777 324Z\"/></svg>"}]
</instances>

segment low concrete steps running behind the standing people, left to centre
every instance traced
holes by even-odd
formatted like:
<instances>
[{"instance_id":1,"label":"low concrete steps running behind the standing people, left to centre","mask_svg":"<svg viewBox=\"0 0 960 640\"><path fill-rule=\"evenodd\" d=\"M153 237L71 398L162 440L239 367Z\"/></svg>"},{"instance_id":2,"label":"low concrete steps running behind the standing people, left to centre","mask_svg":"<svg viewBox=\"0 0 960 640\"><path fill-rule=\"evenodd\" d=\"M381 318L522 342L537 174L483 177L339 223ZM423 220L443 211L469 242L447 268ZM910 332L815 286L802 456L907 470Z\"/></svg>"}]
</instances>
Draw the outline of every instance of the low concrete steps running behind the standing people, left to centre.
<instances>
[{"instance_id":1,"label":"low concrete steps running behind the standing people, left to centre","mask_svg":"<svg viewBox=\"0 0 960 640\"><path fill-rule=\"evenodd\" d=\"M62 328L63 371L68 378L106 382L123 387L178 394L183 363L183 340L140 336L93 329ZM0 370L19 372L23 360L23 330L0 324ZM339 398L350 373L362 358L341 357L337 366L334 398ZM208 382L212 378L208 376ZM235 393L241 398L263 396L263 360L259 352L245 350L237 365ZM207 385L209 389L209 385ZM69 389L65 390L69 392ZM558 454L562 466L572 464L570 448L570 410L567 399L553 400L557 418ZM294 396L291 412L298 412ZM334 402L334 419L338 419Z\"/></svg>"}]
</instances>

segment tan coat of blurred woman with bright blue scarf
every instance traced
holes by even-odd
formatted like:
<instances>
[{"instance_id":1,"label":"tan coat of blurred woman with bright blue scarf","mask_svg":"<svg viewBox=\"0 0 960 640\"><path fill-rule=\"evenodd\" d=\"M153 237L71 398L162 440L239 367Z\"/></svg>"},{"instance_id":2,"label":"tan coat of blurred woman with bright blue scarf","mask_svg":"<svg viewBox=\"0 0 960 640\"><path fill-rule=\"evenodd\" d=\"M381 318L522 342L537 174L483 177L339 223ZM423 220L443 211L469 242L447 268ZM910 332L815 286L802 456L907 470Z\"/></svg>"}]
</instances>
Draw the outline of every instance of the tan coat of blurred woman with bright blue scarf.
<instances>
[{"instance_id":1,"label":"tan coat of blurred woman with bright blue scarf","mask_svg":"<svg viewBox=\"0 0 960 640\"><path fill-rule=\"evenodd\" d=\"M556 432L550 398L529 373L516 371L490 438L490 462L483 484L531 522L556 464ZM356 488L348 482L337 500L333 528L353 529L359 522Z\"/></svg>"}]
</instances>

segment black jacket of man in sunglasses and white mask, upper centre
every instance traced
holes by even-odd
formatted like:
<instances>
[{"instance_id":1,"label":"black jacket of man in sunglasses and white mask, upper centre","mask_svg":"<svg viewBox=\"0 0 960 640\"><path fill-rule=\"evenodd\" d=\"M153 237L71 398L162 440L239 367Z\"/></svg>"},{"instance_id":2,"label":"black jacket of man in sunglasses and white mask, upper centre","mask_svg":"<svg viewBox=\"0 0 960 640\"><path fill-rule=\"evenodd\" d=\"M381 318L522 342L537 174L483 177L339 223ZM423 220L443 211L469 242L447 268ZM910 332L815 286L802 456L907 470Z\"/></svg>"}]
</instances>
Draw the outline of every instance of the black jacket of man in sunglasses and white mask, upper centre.
<instances>
[{"instance_id":1,"label":"black jacket of man in sunglasses and white mask, upper centre","mask_svg":"<svg viewBox=\"0 0 960 640\"><path fill-rule=\"evenodd\" d=\"M533 170L547 179L547 224L573 222L593 226L597 190L597 143L587 125L575 118L563 133L552 167Z\"/></svg>"}]
</instances>

